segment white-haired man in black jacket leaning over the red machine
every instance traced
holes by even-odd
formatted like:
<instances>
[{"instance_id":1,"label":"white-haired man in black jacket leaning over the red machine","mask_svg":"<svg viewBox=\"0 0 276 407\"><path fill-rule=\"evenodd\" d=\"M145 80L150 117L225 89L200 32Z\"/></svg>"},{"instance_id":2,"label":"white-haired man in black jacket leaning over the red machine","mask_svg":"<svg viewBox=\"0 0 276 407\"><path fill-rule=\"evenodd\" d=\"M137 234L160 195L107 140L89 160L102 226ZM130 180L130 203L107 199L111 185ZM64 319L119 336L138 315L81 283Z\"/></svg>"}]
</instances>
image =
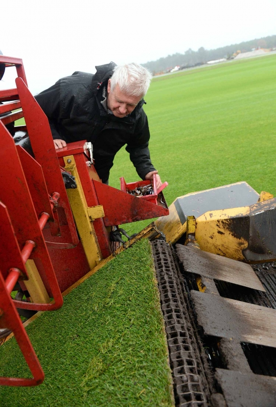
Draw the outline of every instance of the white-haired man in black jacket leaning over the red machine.
<instances>
[{"instance_id":1,"label":"white-haired man in black jacket leaning over the red machine","mask_svg":"<svg viewBox=\"0 0 276 407\"><path fill-rule=\"evenodd\" d=\"M126 144L137 174L152 180L158 171L150 160L143 110L151 74L136 63L110 62L96 69L95 75L75 72L61 78L35 97L49 119L56 149L68 142L90 141L98 175L108 183L114 156ZM157 174L157 188L161 184Z\"/></svg>"}]
</instances>

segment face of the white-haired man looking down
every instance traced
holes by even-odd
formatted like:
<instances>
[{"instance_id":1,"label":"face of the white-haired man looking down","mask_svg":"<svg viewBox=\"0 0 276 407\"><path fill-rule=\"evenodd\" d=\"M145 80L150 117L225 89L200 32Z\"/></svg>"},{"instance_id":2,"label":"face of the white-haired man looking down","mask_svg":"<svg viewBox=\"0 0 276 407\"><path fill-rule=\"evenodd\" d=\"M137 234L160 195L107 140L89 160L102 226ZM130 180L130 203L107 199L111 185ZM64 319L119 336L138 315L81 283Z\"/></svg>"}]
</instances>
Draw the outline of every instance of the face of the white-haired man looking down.
<instances>
[{"instance_id":1,"label":"face of the white-haired man looking down","mask_svg":"<svg viewBox=\"0 0 276 407\"><path fill-rule=\"evenodd\" d=\"M114 116L125 117L129 115L137 104L142 99L142 96L129 96L122 93L119 86L116 85L113 92L110 90L110 79L107 84L107 107Z\"/></svg>"}]
</instances>

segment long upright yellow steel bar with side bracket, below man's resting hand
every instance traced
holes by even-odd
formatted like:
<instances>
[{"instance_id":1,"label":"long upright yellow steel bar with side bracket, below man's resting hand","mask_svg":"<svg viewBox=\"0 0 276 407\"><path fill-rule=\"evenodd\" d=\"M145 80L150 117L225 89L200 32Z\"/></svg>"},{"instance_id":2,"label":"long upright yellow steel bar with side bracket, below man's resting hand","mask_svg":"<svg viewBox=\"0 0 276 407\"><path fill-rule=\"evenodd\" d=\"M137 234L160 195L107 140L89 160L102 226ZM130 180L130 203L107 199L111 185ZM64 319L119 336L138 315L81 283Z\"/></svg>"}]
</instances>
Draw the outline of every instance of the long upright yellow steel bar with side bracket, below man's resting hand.
<instances>
[{"instance_id":1,"label":"long upright yellow steel bar with side bracket, below man's resting hand","mask_svg":"<svg viewBox=\"0 0 276 407\"><path fill-rule=\"evenodd\" d=\"M90 216L93 219L97 219L101 215L104 216L104 212L103 209L87 206L74 156L67 156L63 159L65 163L64 168L70 171L76 180L77 188L66 189L66 191L87 262L90 269L93 269L102 260L102 253ZM71 160L70 164L67 163L67 160Z\"/></svg>"}]
</instances>

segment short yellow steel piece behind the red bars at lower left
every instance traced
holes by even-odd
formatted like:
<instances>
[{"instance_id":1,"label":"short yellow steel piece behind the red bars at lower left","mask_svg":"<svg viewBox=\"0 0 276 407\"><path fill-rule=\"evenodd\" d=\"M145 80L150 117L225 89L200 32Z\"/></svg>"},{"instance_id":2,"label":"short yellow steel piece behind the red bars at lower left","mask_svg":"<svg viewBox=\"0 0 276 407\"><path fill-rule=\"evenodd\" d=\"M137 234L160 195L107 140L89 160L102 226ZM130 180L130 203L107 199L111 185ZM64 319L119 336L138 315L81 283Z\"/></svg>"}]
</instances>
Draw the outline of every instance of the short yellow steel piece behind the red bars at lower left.
<instances>
[{"instance_id":1,"label":"short yellow steel piece behind the red bars at lower left","mask_svg":"<svg viewBox=\"0 0 276 407\"><path fill-rule=\"evenodd\" d=\"M24 284L29 291L32 302L37 304L50 303L50 297L41 280L35 262L33 260L28 260L25 267L28 273L29 280L24 280Z\"/></svg>"}]
</instances>

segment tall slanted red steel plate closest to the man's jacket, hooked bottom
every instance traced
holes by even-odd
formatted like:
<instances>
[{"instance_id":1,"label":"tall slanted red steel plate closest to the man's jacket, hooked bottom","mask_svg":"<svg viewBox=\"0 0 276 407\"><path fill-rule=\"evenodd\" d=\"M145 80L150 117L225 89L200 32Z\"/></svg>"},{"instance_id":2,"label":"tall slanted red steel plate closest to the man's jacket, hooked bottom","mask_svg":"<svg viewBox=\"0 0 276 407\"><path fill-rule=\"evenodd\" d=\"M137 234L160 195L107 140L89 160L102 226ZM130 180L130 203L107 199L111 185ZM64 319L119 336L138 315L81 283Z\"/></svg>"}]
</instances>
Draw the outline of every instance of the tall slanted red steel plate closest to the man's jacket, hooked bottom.
<instances>
[{"instance_id":1,"label":"tall slanted red steel plate closest to the man's jacket, hooked bottom","mask_svg":"<svg viewBox=\"0 0 276 407\"><path fill-rule=\"evenodd\" d=\"M64 241L62 235L61 237L52 237L51 241L65 244L67 248L74 247L79 242L78 234L61 176L48 119L21 78L16 79L16 85L35 159L43 168L49 194L51 196L53 192L60 194L59 206L63 207L65 211L71 232L70 242Z\"/></svg>"}]
</instances>

